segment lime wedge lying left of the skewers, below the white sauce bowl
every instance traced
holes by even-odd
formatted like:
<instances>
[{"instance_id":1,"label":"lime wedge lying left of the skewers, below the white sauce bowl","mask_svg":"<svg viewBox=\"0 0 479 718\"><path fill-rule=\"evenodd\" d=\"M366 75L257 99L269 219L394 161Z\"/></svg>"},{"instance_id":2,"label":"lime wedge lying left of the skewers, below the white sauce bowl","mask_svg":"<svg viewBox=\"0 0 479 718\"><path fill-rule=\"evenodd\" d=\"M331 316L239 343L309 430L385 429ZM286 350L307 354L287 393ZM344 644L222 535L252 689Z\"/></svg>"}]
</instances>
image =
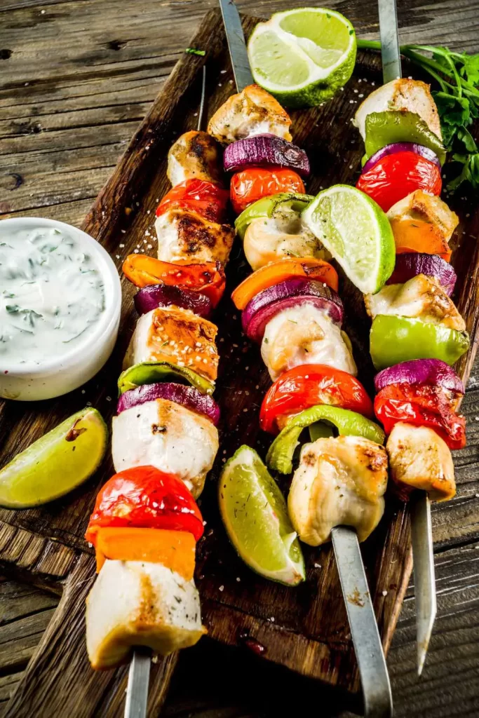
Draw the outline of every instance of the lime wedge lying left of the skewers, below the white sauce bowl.
<instances>
[{"instance_id":1,"label":"lime wedge lying left of the skewers, below the white sauce bowl","mask_svg":"<svg viewBox=\"0 0 479 718\"><path fill-rule=\"evenodd\" d=\"M100 412L78 411L0 470L0 505L28 508L63 496L96 471L107 443Z\"/></svg>"}]
</instances>

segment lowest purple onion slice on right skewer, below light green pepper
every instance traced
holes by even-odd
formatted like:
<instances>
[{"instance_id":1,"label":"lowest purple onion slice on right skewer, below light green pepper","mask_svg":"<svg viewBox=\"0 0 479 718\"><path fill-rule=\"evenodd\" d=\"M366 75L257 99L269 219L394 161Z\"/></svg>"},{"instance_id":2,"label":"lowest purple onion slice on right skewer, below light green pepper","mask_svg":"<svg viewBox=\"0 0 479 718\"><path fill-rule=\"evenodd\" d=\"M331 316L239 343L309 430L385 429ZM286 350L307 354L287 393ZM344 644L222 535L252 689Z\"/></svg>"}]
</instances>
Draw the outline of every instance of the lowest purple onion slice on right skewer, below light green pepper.
<instances>
[{"instance_id":1,"label":"lowest purple onion slice on right skewer, below light green pepper","mask_svg":"<svg viewBox=\"0 0 479 718\"><path fill-rule=\"evenodd\" d=\"M440 359L411 359L383 369L374 378L376 392L389 384L427 384L464 393L464 384L449 364Z\"/></svg>"}]
</instances>

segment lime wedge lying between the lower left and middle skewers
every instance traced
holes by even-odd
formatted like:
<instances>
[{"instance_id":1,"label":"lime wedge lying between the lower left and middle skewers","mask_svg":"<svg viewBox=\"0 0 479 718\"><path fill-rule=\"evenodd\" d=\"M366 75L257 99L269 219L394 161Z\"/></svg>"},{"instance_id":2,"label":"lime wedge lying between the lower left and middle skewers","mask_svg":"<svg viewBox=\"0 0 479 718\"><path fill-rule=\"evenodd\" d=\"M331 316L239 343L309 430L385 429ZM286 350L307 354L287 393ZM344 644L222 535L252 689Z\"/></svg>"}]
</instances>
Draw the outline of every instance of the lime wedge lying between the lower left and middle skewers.
<instances>
[{"instance_id":1,"label":"lime wedge lying between the lower left and middle skewers","mask_svg":"<svg viewBox=\"0 0 479 718\"><path fill-rule=\"evenodd\" d=\"M243 561L271 581L304 581L304 559L286 501L254 449L242 446L226 462L219 483L225 529Z\"/></svg>"}]
</instances>

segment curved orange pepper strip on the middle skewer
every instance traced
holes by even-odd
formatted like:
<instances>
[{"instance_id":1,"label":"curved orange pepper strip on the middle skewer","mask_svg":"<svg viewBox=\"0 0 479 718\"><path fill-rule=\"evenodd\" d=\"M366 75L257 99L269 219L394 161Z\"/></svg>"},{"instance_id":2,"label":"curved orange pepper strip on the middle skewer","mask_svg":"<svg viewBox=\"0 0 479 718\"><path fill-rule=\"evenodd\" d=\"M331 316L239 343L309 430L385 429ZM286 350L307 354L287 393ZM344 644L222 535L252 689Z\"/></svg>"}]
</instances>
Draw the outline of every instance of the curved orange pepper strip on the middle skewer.
<instances>
[{"instance_id":1,"label":"curved orange pepper strip on the middle skewer","mask_svg":"<svg viewBox=\"0 0 479 718\"><path fill-rule=\"evenodd\" d=\"M330 289L338 292L338 272L329 262L312 257L304 259L286 257L272 264L266 264L246 277L231 294L231 299L237 309L244 309L256 294L293 276L322 281Z\"/></svg>"}]
</instances>

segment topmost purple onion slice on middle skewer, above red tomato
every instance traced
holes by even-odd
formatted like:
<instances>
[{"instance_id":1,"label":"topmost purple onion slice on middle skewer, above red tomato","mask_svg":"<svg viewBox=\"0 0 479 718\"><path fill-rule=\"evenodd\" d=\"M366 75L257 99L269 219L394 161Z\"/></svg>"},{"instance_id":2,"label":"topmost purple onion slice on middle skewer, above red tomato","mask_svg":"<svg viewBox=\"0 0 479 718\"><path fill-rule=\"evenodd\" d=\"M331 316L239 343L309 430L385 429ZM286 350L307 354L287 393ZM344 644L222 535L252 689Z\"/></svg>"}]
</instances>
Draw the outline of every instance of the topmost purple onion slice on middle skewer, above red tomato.
<instances>
[{"instance_id":1,"label":"topmost purple onion slice on middle skewer, above red tomato","mask_svg":"<svg viewBox=\"0 0 479 718\"><path fill-rule=\"evenodd\" d=\"M238 172L245 167L264 167L266 164L289 167L301 177L307 177L311 171L304 149L272 134L253 135L228 144L223 164L226 172Z\"/></svg>"}]
</instances>

